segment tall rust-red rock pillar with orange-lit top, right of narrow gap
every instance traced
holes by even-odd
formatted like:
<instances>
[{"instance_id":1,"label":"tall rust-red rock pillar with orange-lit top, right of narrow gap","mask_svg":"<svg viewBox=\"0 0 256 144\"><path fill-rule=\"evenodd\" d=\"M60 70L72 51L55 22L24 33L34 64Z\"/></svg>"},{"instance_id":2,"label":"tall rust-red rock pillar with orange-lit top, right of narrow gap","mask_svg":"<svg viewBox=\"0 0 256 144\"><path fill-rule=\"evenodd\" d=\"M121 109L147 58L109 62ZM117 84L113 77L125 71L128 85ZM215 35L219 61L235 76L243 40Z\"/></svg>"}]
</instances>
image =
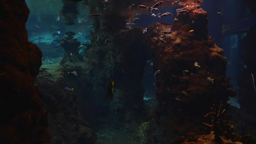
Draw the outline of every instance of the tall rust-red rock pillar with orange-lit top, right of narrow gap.
<instances>
[{"instance_id":1,"label":"tall rust-red rock pillar with orange-lit top, right of narrow gap","mask_svg":"<svg viewBox=\"0 0 256 144\"><path fill-rule=\"evenodd\" d=\"M186 6L173 25L154 24L147 35L159 102L144 137L137 135L137 141L170 144L174 136L209 132L202 123L210 122L204 116L211 102L222 101L226 108L235 92L225 75L224 51L207 35L207 12L200 5Z\"/></svg>"}]
</instances>

